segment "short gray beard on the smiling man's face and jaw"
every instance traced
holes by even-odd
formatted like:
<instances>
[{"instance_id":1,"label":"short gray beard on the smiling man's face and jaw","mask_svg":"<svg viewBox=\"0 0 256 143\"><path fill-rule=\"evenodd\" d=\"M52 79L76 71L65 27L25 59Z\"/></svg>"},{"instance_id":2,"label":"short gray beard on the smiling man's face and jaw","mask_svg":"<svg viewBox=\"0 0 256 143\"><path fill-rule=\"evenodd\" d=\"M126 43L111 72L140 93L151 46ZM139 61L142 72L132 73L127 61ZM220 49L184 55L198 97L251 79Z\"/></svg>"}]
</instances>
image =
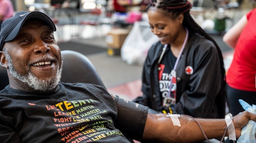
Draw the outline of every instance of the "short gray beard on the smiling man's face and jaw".
<instances>
[{"instance_id":1,"label":"short gray beard on the smiling man's face and jaw","mask_svg":"<svg viewBox=\"0 0 256 143\"><path fill-rule=\"evenodd\" d=\"M61 64L60 68L57 68L55 77L47 78L45 80L42 80L42 79L36 77L32 73L31 69L29 69L29 73L27 75L21 75L14 69L11 56L8 54L7 50L5 50L5 49L3 50L3 52L8 61L9 72L11 73L11 75L14 78L20 80L23 83L28 84L30 87L32 87L35 90L39 90L39 91L43 91L43 92L50 91L58 85L60 78L61 78L62 64ZM42 56L42 57L40 57L40 59L47 58L47 57L48 56ZM55 59L55 61L57 61L57 60ZM56 62L56 65L57 65L57 67L59 67L59 62ZM29 65L27 67L29 67Z\"/></svg>"}]
</instances>

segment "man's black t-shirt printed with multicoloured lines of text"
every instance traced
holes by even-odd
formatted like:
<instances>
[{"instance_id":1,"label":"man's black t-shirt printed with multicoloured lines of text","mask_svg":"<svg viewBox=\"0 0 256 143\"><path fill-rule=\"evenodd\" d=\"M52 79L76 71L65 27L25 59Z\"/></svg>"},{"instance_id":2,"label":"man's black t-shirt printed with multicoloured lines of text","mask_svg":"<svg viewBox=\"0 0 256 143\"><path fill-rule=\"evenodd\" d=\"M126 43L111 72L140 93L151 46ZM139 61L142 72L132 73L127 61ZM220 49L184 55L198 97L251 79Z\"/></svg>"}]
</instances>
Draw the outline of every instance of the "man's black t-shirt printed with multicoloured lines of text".
<instances>
[{"instance_id":1,"label":"man's black t-shirt printed with multicoloured lines of text","mask_svg":"<svg viewBox=\"0 0 256 143\"><path fill-rule=\"evenodd\" d=\"M118 103L130 104L128 110L138 114L132 117L133 124L143 132L147 108L125 100ZM0 91L1 142L129 142L114 126L117 118L116 101L96 85L60 83L58 90L50 94L9 86Z\"/></svg>"}]
</instances>

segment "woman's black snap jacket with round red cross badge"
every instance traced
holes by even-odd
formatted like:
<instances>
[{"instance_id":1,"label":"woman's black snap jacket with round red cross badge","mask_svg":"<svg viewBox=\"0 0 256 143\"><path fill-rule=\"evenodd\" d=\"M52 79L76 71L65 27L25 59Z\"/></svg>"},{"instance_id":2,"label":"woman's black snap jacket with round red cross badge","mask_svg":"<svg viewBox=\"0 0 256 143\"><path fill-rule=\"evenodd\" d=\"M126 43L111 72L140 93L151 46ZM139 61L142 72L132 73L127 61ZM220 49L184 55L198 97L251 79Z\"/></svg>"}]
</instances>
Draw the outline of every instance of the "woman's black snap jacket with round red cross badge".
<instances>
[{"instance_id":1,"label":"woman's black snap jacket with round red cross badge","mask_svg":"<svg viewBox=\"0 0 256 143\"><path fill-rule=\"evenodd\" d=\"M158 79L158 60L163 47L157 42L148 51L142 72L143 96L133 100L157 111L163 109ZM194 69L193 74L185 73L186 66ZM222 80L220 58L214 43L189 33L188 44L176 68L177 99L176 104L171 105L173 113L197 118L224 118L225 95L220 92L224 88L221 87Z\"/></svg>"}]
</instances>

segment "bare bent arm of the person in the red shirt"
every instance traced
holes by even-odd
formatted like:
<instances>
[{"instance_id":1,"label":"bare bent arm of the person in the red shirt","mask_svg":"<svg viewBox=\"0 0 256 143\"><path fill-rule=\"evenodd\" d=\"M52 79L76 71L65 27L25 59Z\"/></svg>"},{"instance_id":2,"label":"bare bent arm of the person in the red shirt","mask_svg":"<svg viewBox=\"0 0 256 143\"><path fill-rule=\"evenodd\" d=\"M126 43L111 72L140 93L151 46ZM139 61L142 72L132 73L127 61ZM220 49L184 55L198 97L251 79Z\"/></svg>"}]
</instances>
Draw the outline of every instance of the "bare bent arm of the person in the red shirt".
<instances>
[{"instance_id":1,"label":"bare bent arm of the person in the red shirt","mask_svg":"<svg viewBox=\"0 0 256 143\"><path fill-rule=\"evenodd\" d=\"M236 47L236 42L247 24L247 17L244 15L234 26L232 26L223 36L223 41L231 48Z\"/></svg>"}]
</instances>

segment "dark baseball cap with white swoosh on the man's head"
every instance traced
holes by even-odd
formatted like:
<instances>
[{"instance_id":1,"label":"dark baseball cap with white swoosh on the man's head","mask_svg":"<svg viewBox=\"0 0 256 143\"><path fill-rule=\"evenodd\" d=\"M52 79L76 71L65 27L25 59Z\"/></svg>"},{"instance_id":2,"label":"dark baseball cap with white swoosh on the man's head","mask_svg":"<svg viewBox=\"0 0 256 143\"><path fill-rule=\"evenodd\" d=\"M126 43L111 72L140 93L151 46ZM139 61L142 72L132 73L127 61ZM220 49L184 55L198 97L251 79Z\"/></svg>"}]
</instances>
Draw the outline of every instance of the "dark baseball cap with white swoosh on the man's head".
<instances>
[{"instance_id":1,"label":"dark baseball cap with white swoosh on the man's head","mask_svg":"<svg viewBox=\"0 0 256 143\"><path fill-rule=\"evenodd\" d=\"M24 24L24 22L31 18L38 18L44 21L53 31L56 31L56 27L46 14L40 11L20 11L17 12L13 17L6 19L3 21L0 31L0 51L3 50L3 46L5 42L13 40L20 32L20 28Z\"/></svg>"}]
</instances>

